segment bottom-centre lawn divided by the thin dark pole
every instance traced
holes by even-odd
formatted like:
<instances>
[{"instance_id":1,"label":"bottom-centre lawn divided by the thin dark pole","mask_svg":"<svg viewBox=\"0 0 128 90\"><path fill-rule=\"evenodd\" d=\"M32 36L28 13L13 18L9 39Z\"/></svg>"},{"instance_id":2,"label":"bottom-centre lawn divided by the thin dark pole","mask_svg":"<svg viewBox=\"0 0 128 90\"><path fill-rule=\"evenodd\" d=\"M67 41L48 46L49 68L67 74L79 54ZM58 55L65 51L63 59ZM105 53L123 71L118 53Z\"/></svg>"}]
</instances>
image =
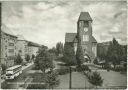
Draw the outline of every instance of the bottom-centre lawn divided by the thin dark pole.
<instances>
[{"instance_id":1,"label":"bottom-centre lawn divided by the thin dark pole","mask_svg":"<svg viewBox=\"0 0 128 90\"><path fill-rule=\"evenodd\" d=\"M55 89L68 89L69 88L69 73L60 75L60 84ZM86 85L86 86L85 86ZM79 72L72 73L72 88L73 89L85 89L92 88L93 86L88 82L87 78Z\"/></svg>"}]
</instances>

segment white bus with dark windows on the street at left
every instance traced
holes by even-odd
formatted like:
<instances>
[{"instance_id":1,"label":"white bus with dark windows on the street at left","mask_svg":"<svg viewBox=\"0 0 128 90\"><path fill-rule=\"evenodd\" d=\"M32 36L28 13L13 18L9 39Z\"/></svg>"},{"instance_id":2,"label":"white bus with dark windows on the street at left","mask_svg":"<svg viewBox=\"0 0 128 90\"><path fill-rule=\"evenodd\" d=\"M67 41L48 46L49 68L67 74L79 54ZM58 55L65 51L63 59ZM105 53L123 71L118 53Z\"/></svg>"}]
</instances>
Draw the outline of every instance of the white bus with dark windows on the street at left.
<instances>
[{"instance_id":1,"label":"white bus with dark windows on the street at left","mask_svg":"<svg viewBox=\"0 0 128 90\"><path fill-rule=\"evenodd\" d=\"M6 69L6 79L14 79L22 73L22 66L15 65Z\"/></svg>"}]
</instances>

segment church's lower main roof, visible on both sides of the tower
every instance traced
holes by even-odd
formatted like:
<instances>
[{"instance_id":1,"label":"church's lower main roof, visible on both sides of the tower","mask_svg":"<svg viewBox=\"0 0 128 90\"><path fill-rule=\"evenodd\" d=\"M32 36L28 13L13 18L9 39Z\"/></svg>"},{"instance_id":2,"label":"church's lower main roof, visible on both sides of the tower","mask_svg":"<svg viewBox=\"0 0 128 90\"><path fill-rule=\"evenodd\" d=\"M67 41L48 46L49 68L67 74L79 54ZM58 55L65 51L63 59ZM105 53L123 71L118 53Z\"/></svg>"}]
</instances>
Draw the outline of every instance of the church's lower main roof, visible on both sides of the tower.
<instances>
[{"instance_id":1,"label":"church's lower main roof, visible on both sides of the tower","mask_svg":"<svg viewBox=\"0 0 128 90\"><path fill-rule=\"evenodd\" d=\"M77 33L66 33L65 42L78 42L76 38ZM92 43L97 43L96 39L92 36L91 37Z\"/></svg>"}]
</instances>

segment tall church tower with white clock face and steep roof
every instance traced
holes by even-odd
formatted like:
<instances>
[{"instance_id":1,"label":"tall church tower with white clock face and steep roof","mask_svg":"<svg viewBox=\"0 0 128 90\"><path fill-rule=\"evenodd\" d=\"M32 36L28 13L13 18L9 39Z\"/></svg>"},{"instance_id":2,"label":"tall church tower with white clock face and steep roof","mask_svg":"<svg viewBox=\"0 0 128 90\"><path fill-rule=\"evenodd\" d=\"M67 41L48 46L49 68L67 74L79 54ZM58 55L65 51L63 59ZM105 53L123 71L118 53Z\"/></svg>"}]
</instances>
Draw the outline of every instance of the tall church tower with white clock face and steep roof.
<instances>
[{"instance_id":1,"label":"tall church tower with white clock face and steep roof","mask_svg":"<svg viewBox=\"0 0 128 90\"><path fill-rule=\"evenodd\" d=\"M84 57L90 59L94 58L93 47L94 43L92 39L92 18L88 12L81 12L78 22L77 22L77 34L81 39L81 46L83 50ZM96 54L96 51L95 51Z\"/></svg>"}]
</instances>

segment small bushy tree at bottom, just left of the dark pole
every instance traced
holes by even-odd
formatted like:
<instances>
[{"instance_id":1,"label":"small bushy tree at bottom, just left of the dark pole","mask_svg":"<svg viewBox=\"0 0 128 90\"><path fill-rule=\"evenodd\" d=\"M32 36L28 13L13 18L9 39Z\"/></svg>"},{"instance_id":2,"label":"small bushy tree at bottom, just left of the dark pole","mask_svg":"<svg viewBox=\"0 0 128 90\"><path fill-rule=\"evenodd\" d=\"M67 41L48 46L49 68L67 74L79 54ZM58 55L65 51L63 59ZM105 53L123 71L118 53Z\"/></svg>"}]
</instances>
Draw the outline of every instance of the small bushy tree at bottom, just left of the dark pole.
<instances>
[{"instance_id":1,"label":"small bushy tree at bottom, just left of the dark pole","mask_svg":"<svg viewBox=\"0 0 128 90\"><path fill-rule=\"evenodd\" d=\"M46 74L45 83L48 85L49 89L59 84L57 72L51 71Z\"/></svg>"}]
</instances>

